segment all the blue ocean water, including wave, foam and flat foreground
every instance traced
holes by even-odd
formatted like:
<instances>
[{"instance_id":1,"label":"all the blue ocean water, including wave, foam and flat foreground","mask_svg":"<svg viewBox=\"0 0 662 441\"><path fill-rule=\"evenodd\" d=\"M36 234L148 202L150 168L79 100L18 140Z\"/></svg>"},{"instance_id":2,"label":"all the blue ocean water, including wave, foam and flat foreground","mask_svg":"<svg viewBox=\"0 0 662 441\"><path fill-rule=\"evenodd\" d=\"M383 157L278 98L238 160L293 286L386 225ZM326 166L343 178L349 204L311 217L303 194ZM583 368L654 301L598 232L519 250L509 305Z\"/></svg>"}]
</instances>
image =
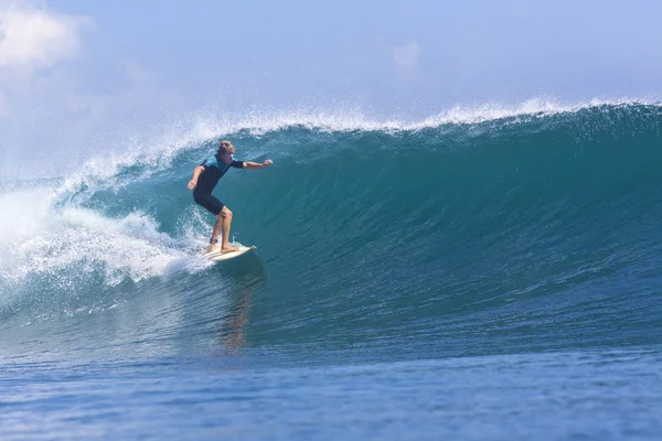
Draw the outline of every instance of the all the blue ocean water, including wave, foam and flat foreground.
<instances>
[{"instance_id":1,"label":"all the blue ocean water, including wave, foam and flat foreground","mask_svg":"<svg viewBox=\"0 0 662 441\"><path fill-rule=\"evenodd\" d=\"M0 438L655 440L662 107L292 118L0 180ZM186 190L220 139L232 241Z\"/></svg>"}]
</instances>

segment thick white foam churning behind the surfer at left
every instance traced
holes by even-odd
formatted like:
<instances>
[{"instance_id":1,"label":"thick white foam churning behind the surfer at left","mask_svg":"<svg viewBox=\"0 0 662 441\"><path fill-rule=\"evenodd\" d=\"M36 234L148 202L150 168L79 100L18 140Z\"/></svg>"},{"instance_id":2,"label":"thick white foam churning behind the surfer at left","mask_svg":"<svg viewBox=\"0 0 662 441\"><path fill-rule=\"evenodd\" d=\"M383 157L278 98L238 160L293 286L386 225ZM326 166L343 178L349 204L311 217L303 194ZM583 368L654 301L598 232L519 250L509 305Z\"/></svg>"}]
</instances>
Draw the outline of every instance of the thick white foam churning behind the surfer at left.
<instances>
[{"instance_id":1,"label":"thick white foam churning behind the surfer at left","mask_svg":"<svg viewBox=\"0 0 662 441\"><path fill-rule=\"evenodd\" d=\"M102 271L106 283L140 281L174 269L209 266L193 240L175 240L139 212L114 219L79 207L57 208L56 193L32 189L0 194L0 281L76 268Z\"/></svg>"}]
</instances>

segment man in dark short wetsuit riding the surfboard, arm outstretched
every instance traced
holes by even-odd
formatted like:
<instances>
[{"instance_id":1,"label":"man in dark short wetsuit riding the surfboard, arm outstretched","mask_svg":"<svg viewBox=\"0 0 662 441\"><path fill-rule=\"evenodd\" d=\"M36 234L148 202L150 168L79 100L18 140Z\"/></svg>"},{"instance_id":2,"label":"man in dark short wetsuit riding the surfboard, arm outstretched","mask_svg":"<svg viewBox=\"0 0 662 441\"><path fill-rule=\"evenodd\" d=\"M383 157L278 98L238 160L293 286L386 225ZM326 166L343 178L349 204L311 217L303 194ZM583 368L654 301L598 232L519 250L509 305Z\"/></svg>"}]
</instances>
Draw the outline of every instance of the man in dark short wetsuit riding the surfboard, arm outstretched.
<instances>
[{"instance_id":1,"label":"man in dark short wetsuit riding the surfboard, arm outstretched","mask_svg":"<svg viewBox=\"0 0 662 441\"><path fill-rule=\"evenodd\" d=\"M222 233L221 252L233 252L237 247L231 247L229 226L232 224L232 212L225 204L212 195L212 191L231 166L235 169L257 170L273 164L270 159L265 162L236 161L233 159L236 149L229 141L221 141L216 154L204 160L193 170L193 179L189 182L189 190L193 190L193 200L216 216L216 224L212 230L207 252L218 251L218 233Z\"/></svg>"}]
</instances>

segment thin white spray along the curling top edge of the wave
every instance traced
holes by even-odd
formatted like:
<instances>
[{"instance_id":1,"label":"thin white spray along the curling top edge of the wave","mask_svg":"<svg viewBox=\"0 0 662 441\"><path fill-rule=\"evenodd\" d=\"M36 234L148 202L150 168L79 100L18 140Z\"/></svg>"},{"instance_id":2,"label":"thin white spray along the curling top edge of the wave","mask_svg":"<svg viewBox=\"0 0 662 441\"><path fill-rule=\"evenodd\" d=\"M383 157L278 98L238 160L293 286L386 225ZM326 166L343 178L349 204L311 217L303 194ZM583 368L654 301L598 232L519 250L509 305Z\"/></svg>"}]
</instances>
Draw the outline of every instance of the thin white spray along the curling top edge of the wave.
<instances>
[{"instance_id":1,"label":"thin white spray along the curling top edge of the wave","mask_svg":"<svg viewBox=\"0 0 662 441\"><path fill-rule=\"evenodd\" d=\"M104 189L119 187L117 175L121 170L134 166L143 168L139 179L148 179L153 173L172 165L172 161L185 151L200 149L221 137L228 137L243 131L253 137L288 128L305 128L322 132L383 131L396 133L401 131L419 131L445 125L476 125L489 121L517 118L517 121L545 118L560 114L573 114L586 109L601 107L622 108L630 106L662 107L660 101L647 99L592 99L579 104L559 104L551 98L530 99L524 103L505 106L484 104L481 106L456 106L438 115L420 121L407 122L398 119L369 119L361 111L340 110L328 112L314 109L290 111L253 111L236 117L224 116L220 119L199 116L189 128L179 127L172 132L156 140L132 140L129 151L97 155L87 160L81 171L64 176L58 194L66 195L82 187L103 185Z\"/></svg>"}]
</instances>

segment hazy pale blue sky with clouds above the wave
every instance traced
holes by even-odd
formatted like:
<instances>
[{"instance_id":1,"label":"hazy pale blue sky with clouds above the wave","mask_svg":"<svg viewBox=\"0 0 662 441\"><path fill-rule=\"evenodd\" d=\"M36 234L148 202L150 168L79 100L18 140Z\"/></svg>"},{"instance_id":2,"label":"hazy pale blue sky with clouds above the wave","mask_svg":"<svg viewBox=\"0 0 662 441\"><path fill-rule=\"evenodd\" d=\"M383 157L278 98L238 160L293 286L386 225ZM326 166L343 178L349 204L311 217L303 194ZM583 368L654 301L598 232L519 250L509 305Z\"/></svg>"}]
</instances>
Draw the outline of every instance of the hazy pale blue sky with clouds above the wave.
<instances>
[{"instance_id":1,"label":"hazy pale blue sky with clouds above the wave","mask_svg":"<svg viewBox=\"0 0 662 441\"><path fill-rule=\"evenodd\" d=\"M0 0L0 148L85 146L248 109L420 119L662 92L652 0Z\"/></svg>"}]
</instances>

